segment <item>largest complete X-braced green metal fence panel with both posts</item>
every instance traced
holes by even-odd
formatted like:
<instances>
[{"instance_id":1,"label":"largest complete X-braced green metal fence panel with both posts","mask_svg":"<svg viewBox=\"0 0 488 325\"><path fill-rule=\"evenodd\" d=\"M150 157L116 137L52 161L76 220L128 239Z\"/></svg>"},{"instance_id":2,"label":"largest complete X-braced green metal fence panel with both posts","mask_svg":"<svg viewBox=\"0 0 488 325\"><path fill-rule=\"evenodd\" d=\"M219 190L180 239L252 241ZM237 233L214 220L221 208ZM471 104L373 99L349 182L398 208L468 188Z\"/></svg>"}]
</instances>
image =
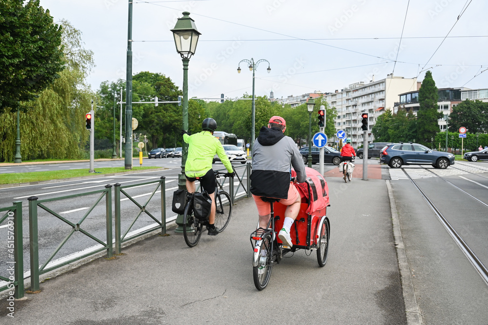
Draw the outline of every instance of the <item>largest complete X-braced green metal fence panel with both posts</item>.
<instances>
[{"instance_id":1,"label":"largest complete X-braced green metal fence panel with both posts","mask_svg":"<svg viewBox=\"0 0 488 325\"><path fill-rule=\"evenodd\" d=\"M52 211L51 209L47 208L43 203L52 202L52 201L59 201L73 197L82 197L87 195L94 195L100 194L96 199L95 203L88 209L88 211L81 217L80 221L76 224L61 217L58 213ZM106 207L106 234L107 234L107 241L103 242L102 239L96 238L92 234L85 231L81 228L81 223L88 217L88 215L92 212L92 210L98 205L98 203L105 197L105 207ZM61 266L67 265L72 263L76 260L84 259L90 255L97 254L102 252L103 250L107 251L107 257L111 258L113 255L113 243L112 243L112 185L106 185L104 190L87 192L82 194L75 194L75 195L67 195L62 197L55 197L45 200L38 200L36 196L31 196L28 198L29 201L29 243L30 243L30 271L31 271L31 291L39 290L39 276L41 274L47 273L54 269L57 269ZM54 217L57 217L61 221L65 222L66 224L72 227L71 232L66 235L64 240L59 244L58 248L51 254L51 256L39 267L39 231L38 231L38 207L47 211ZM57 265L47 267L47 264L54 258L54 256L60 251L61 247L66 243L66 241L75 233L81 232L82 234L92 238L93 240L97 241L99 244L102 245L102 248L96 249L94 251L88 252L81 256L75 257L73 259L61 262Z\"/></svg>"}]
</instances>

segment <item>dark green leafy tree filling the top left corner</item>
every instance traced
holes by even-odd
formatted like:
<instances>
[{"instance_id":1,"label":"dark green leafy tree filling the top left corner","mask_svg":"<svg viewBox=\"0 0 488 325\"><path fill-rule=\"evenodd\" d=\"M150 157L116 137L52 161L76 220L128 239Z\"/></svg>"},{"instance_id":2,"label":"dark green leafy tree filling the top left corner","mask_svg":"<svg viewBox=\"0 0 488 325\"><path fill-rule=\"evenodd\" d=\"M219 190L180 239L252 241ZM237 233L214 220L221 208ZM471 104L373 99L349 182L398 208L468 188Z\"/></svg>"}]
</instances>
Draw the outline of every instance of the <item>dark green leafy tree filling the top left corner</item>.
<instances>
[{"instance_id":1,"label":"dark green leafy tree filling the top left corner","mask_svg":"<svg viewBox=\"0 0 488 325\"><path fill-rule=\"evenodd\" d=\"M0 113L35 99L64 68L61 26L40 0L23 2L0 1Z\"/></svg>"}]
</instances>

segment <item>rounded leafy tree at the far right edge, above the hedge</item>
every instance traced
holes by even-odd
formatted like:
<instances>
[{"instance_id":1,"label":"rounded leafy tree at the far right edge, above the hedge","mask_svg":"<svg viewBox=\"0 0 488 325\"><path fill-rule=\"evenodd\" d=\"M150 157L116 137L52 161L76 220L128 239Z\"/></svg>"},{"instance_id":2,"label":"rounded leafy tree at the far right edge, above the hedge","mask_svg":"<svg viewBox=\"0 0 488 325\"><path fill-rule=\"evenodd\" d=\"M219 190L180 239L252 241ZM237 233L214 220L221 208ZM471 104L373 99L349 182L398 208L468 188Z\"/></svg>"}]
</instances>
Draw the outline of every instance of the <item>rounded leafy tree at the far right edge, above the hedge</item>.
<instances>
[{"instance_id":1,"label":"rounded leafy tree at the far right edge, above the hedge","mask_svg":"<svg viewBox=\"0 0 488 325\"><path fill-rule=\"evenodd\" d=\"M452 108L448 121L449 131L456 132L461 127L469 133L488 131L488 103L479 100L465 100Z\"/></svg>"}]
</instances>

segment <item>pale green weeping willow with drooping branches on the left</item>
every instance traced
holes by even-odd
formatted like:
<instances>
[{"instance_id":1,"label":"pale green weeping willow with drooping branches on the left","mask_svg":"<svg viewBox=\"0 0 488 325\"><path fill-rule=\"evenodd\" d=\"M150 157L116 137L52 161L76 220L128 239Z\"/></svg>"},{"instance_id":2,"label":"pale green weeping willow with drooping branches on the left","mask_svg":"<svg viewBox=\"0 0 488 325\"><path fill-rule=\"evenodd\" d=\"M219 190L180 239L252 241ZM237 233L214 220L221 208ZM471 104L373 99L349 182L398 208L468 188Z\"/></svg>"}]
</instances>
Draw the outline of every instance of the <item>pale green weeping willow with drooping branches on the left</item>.
<instances>
[{"instance_id":1,"label":"pale green weeping willow with drooping branches on the left","mask_svg":"<svg viewBox=\"0 0 488 325\"><path fill-rule=\"evenodd\" d=\"M84 114L93 94L84 80L94 66L93 53L82 47L81 32L61 21L65 68L38 98L20 102L21 155L29 159L81 158L88 139ZM0 161L15 153L16 114L0 114Z\"/></svg>"}]
</instances>

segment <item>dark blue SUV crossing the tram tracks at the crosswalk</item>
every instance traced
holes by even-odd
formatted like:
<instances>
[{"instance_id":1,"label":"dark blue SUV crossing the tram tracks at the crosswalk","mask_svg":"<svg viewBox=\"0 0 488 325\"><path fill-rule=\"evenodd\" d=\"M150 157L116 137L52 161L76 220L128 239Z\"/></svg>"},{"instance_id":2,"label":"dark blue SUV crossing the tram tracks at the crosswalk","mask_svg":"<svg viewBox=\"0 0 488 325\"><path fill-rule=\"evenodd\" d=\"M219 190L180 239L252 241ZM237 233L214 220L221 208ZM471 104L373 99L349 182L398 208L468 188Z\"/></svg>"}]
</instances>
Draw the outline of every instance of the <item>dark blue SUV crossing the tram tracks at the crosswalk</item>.
<instances>
[{"instance_id":1,"label":"dark blue SUV crossing the tram tracks at the crosswalk","mask_svg":"<svg viewBox=\"0 0 488 325\"><path fill-rule=\"evenodd\" d=\"M446 169L454 165L452 153L432 151L417 143L393 143L381 152L380 162L391 168L402 165L432 165L434 168Z\"/></svg>"}]
</instances>

